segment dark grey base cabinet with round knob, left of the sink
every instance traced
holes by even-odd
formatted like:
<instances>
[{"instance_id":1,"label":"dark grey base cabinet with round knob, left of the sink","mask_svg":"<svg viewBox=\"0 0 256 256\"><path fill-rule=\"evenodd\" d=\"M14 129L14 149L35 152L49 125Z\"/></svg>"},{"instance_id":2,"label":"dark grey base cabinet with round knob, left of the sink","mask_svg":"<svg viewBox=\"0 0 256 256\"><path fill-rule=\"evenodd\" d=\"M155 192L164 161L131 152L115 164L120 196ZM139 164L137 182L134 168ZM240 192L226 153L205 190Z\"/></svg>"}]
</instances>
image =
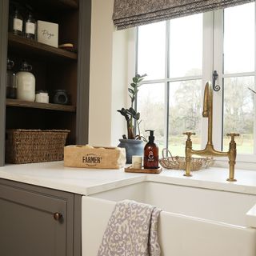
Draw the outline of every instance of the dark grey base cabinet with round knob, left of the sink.
<instances>
[{"instance_id":1,"label":"dark grey base cabinet with round knob, left of the sink","mask_svg":"<svg viewBox=\"0 0 256 256\"><path fill-rule=\"evenodd\" d=\"M0 179L0 254L81 256L81 196Z\"/></svg>"}]
</instances>

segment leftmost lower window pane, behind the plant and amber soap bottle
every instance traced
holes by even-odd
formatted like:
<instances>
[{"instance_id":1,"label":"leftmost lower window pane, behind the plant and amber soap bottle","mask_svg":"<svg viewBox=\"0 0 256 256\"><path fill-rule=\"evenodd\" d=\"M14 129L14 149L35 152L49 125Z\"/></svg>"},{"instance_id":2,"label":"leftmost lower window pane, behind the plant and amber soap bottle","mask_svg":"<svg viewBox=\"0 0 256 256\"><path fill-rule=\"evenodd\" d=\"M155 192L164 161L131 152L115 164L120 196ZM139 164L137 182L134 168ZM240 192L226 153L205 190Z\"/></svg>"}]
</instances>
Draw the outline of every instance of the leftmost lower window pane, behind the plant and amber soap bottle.
<instances>
[{"instance_id":1,"label":"leftmost lower window pane, behind the plant and amber soap bottle","mask_svg":"<svg viewBox=\"0 0 256 256\"><path fill-rule=\"evenodd\" d=\"M141 114L141 134L148 139L145 130L155 130L155 142L159 147L159 154L165 147L164 142L164 114L165 114L165 86L164 83L143 84L138 91L138 112Z\"/></svg>"}]
</instances>

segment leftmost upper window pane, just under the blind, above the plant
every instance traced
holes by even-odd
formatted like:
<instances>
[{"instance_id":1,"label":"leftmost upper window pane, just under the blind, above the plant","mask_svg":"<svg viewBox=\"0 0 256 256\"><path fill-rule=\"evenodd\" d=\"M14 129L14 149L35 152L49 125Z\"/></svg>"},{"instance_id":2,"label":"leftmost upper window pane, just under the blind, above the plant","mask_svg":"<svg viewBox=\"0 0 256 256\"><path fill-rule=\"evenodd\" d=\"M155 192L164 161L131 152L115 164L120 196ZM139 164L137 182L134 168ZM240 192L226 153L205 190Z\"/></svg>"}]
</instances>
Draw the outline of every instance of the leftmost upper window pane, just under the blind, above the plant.
<instances>
[{"instance_id":1,"label":"leftmost upper window pane, just under the blind, above the plant","mask_svg":"<svg viewBox=\"0 0 256 256\"><path fill-rule=\"evenodd\" d=\"M138 74L147 80L165 78L166 22L138 27Z\"/></svg>"}]
</instances>

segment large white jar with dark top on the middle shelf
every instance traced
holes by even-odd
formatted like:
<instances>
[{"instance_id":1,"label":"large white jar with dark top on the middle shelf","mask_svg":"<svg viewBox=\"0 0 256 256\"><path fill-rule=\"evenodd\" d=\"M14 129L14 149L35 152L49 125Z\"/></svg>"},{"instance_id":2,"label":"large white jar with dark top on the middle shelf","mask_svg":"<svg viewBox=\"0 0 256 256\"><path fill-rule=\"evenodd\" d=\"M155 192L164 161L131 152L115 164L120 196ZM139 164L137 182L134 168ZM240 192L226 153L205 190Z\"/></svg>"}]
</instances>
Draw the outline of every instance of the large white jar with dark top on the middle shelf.
<instances>
[{"instance_id":1,"label":"large white jar with dark top on the middle shelf","mask_svg":"<svg viewBox=\"0 0 256 256\"><path fill-rule=\"evenodd\" d=\"M34 102L35 98L35 78L31 70L32 66L23 61L20 71L16 74L17 98L27 102Z\"/></svg>"}]
</instances>

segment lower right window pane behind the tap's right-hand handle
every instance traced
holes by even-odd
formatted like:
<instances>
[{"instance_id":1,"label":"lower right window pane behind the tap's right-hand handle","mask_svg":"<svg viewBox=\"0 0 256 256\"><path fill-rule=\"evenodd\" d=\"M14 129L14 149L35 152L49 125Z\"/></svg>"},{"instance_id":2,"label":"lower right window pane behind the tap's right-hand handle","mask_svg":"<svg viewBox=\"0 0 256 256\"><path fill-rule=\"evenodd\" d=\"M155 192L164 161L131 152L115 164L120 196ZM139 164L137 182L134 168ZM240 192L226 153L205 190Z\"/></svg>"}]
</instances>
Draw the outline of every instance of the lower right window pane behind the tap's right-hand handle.
<instances>
[{"instance_id":1,"label":"lower right window pane behind the tap's right-hand handle","mask_svg":"<svg viewBox=\"0 0 256 256\"><path fill-rule=\"evenodd\" d=\"M236 139L238 154L254 153L254 77L224 79L223 146L228 150L226 134L240 134Z\"/></svg>"}]
</instances>

